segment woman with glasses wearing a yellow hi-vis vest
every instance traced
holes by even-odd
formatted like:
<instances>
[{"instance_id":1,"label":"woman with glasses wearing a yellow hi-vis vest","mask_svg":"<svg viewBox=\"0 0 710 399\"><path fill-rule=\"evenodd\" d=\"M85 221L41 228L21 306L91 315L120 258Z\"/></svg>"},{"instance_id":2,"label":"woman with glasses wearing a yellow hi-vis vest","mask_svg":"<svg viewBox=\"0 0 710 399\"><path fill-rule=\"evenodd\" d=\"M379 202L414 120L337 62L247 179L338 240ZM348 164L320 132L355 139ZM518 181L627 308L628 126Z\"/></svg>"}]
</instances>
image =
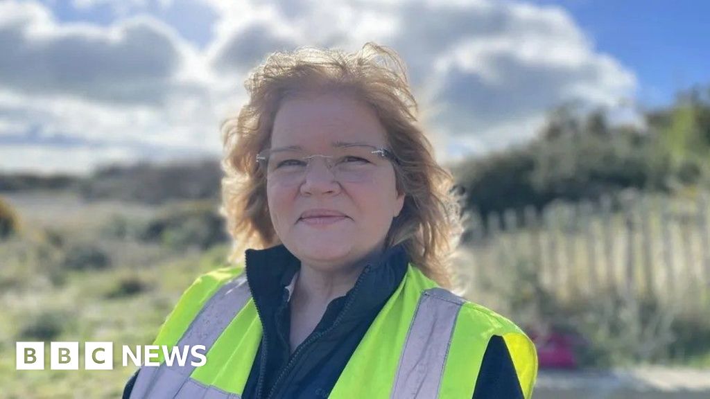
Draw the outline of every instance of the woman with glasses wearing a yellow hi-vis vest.
<instances>
[{"instance_id":1,"label":"woman with glasses wearing a yellow hi-vis vest","mask_svg":"<svg viewBox=\"0 0 710 399\"><path fill-rule=\"evenodd\" d=\"M530 398L528 337L439 288L458 208L398 55L275 53L246 88L223 209L265 249L203 275L161 327L155 344L202 344L205 364L143 366L124 397Z\"/></svg>"}]
</instances>

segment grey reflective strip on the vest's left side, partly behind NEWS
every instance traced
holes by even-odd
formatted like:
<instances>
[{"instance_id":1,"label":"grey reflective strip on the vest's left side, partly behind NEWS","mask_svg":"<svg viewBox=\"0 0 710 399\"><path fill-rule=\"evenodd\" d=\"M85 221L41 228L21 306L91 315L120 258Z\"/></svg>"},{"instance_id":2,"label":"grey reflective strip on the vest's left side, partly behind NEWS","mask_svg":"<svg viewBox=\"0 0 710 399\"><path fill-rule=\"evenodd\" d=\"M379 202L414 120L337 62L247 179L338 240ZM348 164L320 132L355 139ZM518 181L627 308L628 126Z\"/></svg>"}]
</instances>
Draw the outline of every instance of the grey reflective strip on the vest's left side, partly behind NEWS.
<instances>
[{"instance_id":1,"label":"grey reflective strip on the vest's left side, partly behind NEWS","mask_svg":"<svg viewBox=\"0 0 710 399\"><path fill-rule=\"evenodd\" d=\"M250 297L251 291L246 283L246 275L240 275L222 285L217 293L209 298L209 302L204 305L175 346L191 348L195 345L204 345L206 353ZM163 362L158 367L141 367L130 399L241 398L236 393L224 392L214 386L205 386L200 381L190 378L190 374L195 370L195 366L192 366L193 361L197 359L188 351L184 366L179 366L177 363L167 366Z\"/></svg>"}]
</instances>

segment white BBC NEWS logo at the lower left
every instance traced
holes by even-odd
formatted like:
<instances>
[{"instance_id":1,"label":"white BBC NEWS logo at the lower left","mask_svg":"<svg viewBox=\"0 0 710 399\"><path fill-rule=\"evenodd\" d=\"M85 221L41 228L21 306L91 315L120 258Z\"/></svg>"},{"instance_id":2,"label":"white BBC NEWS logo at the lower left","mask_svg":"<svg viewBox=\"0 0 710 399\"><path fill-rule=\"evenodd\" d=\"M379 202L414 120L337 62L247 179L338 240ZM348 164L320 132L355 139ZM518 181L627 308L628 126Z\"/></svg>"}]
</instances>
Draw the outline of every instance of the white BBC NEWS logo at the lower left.
<instances>
[{"instance_id":1,"label":"white BBC NEWS logo at the lower left","mask_svg":"<svg viewBox=\"0 0 710 399\"><path fill-rule=\"evenodd\" d=\"M44 350L44 342L16 342L16 369L44 370ZM187 359L191 359L191 366L200 367L207 362L204 352L204 345L137 345L135 349L123 345L121 363L124 367L131 363L138 367L160 366L158 359L160 354L163 354L166 366L173 366L176 363L182 367L187 363ZM78 370L79 342L50 342L49 358L52 370ZM113 370L113 368L113 342L84 342L84 370Z\"/></svg>"}]
</instances>

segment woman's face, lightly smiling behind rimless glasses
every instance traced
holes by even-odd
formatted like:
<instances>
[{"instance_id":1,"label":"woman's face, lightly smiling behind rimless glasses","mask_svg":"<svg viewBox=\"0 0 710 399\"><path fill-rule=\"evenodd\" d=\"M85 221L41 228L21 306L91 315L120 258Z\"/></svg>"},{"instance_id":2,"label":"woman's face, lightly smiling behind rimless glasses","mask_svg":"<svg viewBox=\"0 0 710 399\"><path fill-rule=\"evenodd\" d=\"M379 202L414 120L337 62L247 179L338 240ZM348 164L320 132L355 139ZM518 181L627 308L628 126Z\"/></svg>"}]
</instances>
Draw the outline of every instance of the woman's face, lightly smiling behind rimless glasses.
<instances>
[{"instance_id":1,"label":"woman's face, lightly smiling behind rimless glasses","mask_svg":"<svg viewBox=\"0 0 710 399\"><path fill-rule=\"evenodd\" d=\"M271 150L293 147L307 155L334 155L346 143L386 148L385 135L375 112L353 97L300 94L281 104ZM382 248L404 195L395 188L395 171L388 160L356 167L364 168L361 178L337 180L327 160L315 157L295 184L267 180L276 234L302 263L333 270Z\"/></svg>"}]
</instances>

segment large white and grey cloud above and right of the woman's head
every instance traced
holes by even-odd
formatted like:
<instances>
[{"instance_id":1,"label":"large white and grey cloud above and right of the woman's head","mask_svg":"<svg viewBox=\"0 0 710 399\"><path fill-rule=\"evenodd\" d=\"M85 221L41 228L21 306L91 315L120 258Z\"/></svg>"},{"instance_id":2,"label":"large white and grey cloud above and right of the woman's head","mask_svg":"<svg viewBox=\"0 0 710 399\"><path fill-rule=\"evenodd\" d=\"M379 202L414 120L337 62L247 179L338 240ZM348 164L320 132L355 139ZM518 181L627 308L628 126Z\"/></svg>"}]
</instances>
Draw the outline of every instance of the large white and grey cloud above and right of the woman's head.
<instances>
[{"instance_id":1,"label":"large white and grey cloud above and right of the woman's head","mask_svg":"<svg viewBox=\"0 0 710 399\"><path fill-rule=\"evenodd\" d=\"M557 7L493 0L277 0L247 6L273 14L249 31L229 26L244 26L241 10L251 3L204 1L220 10L219 40L249 48L248 56L226 62L239 70L288 46L269 33L275 27L294 32L293 47L355 50L374 40L395 48L408 65L415 92L436 106L437 144L448 143L437 146L442 156L452 155L447 147L483 152L525 140L553 106L569 101L616 106L635 89L633 73L598 53ZM249 40L255 30L260 39ZM239 53L230 50L213 48L214 59ZM237 65L239 60L245 65Z\"/></svg>"}]
</instances>

